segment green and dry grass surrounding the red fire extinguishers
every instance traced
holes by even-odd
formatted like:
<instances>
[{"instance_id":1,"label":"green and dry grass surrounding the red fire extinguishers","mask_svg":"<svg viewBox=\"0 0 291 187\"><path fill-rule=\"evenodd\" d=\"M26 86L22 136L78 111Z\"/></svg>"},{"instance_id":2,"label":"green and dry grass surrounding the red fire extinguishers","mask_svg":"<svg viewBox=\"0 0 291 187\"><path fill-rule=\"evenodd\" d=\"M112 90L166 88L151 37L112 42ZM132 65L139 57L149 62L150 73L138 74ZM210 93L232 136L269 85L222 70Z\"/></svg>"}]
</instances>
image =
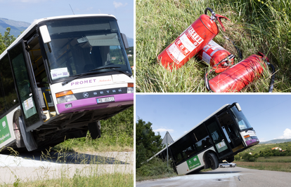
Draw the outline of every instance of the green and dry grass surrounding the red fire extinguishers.
<instances>
[{"instance_id":1,"label":"green and dry grass surrounding the red fire extinguishers","mask_svg":"<svg viewBox=\"0 0 291 187\"><path fill-rule=\"evenodd\" d=\"M136 1L136 92L208 92L204 74L208 71L196 57L176 71L167 71L157 63L157 55L169 46L206 7L231 19L225 21L226 32L214 41L237 55L224 39L228 36L243 52L243 59L264 53L276 67L273 92L291 91L291 3L257 0L145 0ZM237 63L236 61L235 63ZM215 76L215 74L212 74ZM268 92L271 71L241 92Z\"/></svg>"}]
</instances>

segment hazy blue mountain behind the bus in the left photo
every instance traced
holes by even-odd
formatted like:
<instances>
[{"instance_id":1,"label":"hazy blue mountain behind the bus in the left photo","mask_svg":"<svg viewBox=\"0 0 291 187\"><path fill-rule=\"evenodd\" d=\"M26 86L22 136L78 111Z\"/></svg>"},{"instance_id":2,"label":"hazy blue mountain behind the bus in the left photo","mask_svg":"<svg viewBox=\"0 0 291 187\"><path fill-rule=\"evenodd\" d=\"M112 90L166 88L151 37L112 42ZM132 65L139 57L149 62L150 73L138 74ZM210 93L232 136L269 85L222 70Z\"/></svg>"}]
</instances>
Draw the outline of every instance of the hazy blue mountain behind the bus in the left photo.
<instances>
[{"instance_id":1,"label":"hazy blue mountain behind the bus in the left photo","mask_svg":"<svg viewBox=\"0 0 291 187\"><path fill-rule=\"evenodd\" d=\"M7 27L11 27L10 34L17 38L21 34L21 32L24 31L29 26L30 26L29 22L21 22L15 20L8 20L6 18L0 18L0 33L2 35L4 35L4 33L6 32ZM129 43L129 47L134 46L134 39L127 37L127 41Z\"/></svg>"}]
</instances>

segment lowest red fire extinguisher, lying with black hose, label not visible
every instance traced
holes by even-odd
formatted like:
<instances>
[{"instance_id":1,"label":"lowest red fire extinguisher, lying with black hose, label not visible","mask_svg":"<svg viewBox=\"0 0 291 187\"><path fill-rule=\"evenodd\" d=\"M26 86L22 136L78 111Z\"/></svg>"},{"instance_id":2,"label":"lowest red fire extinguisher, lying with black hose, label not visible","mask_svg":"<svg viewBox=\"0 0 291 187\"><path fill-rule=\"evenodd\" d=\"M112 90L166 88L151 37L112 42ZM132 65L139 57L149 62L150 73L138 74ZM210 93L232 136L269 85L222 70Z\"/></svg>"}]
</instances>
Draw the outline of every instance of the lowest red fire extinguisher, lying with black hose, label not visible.
<instances>
[{"instance_id":1,"label":"lowest red fire extinguisher, lying with black hose, label not visible","mask_svg":"<svg viewBox=\"0 0 291 187\"><path fill-rule=\"evenodd\" d=\"M208 81L205 74L205 85L208 90L213 92L239 92L246 85L252 83L259 78L268 64L272 69L271 86L269 92L273 91L273 83L275 79L275 68L269 63L268 57L259 53L259 55L251 55L245 60L238 62L233 67L227 69L221 74L214 76ZM264 68L263 68L264 67Z\"/></svg>"}]
</instances>

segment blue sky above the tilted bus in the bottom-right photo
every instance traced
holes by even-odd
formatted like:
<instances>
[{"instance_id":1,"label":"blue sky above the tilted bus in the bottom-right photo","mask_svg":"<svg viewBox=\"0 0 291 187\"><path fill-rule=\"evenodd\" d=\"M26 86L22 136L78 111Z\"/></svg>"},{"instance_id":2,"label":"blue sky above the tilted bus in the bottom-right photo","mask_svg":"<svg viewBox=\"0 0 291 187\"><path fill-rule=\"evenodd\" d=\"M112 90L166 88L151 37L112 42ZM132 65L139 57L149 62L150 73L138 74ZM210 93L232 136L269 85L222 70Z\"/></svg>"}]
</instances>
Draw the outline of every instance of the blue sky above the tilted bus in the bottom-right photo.
<instances>
[{"instance_id":1,"label":"blue sky above the tilted bus in the bottom-right photo","mask_svg":"<svg viewBox=\"0 0 291 187\"><path fill-rule=\"evenodd\" d=\"M178 139L224 104L238 102L260 141L291 139L291 95L136 95L136 121Z\"/></svg>"}]
</instances>

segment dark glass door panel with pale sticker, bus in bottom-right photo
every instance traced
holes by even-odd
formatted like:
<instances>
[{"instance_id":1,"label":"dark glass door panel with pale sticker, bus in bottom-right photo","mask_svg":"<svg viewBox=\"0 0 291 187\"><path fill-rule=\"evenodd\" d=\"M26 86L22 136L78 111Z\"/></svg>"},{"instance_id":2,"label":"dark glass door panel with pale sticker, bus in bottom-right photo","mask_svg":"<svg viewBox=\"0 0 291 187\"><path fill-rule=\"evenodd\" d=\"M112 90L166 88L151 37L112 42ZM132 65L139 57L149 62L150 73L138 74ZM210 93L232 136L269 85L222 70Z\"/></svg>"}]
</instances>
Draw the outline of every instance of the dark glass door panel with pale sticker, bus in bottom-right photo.
<instances>
[{"instance_id":1,"label":"dark glass door panel with pale sticker, bus in bottom-right photo","mask_svg":"<svg viewBox=\"0 0 291 187\"><path fill-rule=\"evenodd\" d=\"M219 158L223 158L225 155L232 153L231 146L228 144L228 140L221 130L221 126L219 125L219 121L216 116L205 121L205 125L207 130L212 138L212 142L214 144L214 148L216 153L219 155Z\"/></svg>"}]
</instances>

